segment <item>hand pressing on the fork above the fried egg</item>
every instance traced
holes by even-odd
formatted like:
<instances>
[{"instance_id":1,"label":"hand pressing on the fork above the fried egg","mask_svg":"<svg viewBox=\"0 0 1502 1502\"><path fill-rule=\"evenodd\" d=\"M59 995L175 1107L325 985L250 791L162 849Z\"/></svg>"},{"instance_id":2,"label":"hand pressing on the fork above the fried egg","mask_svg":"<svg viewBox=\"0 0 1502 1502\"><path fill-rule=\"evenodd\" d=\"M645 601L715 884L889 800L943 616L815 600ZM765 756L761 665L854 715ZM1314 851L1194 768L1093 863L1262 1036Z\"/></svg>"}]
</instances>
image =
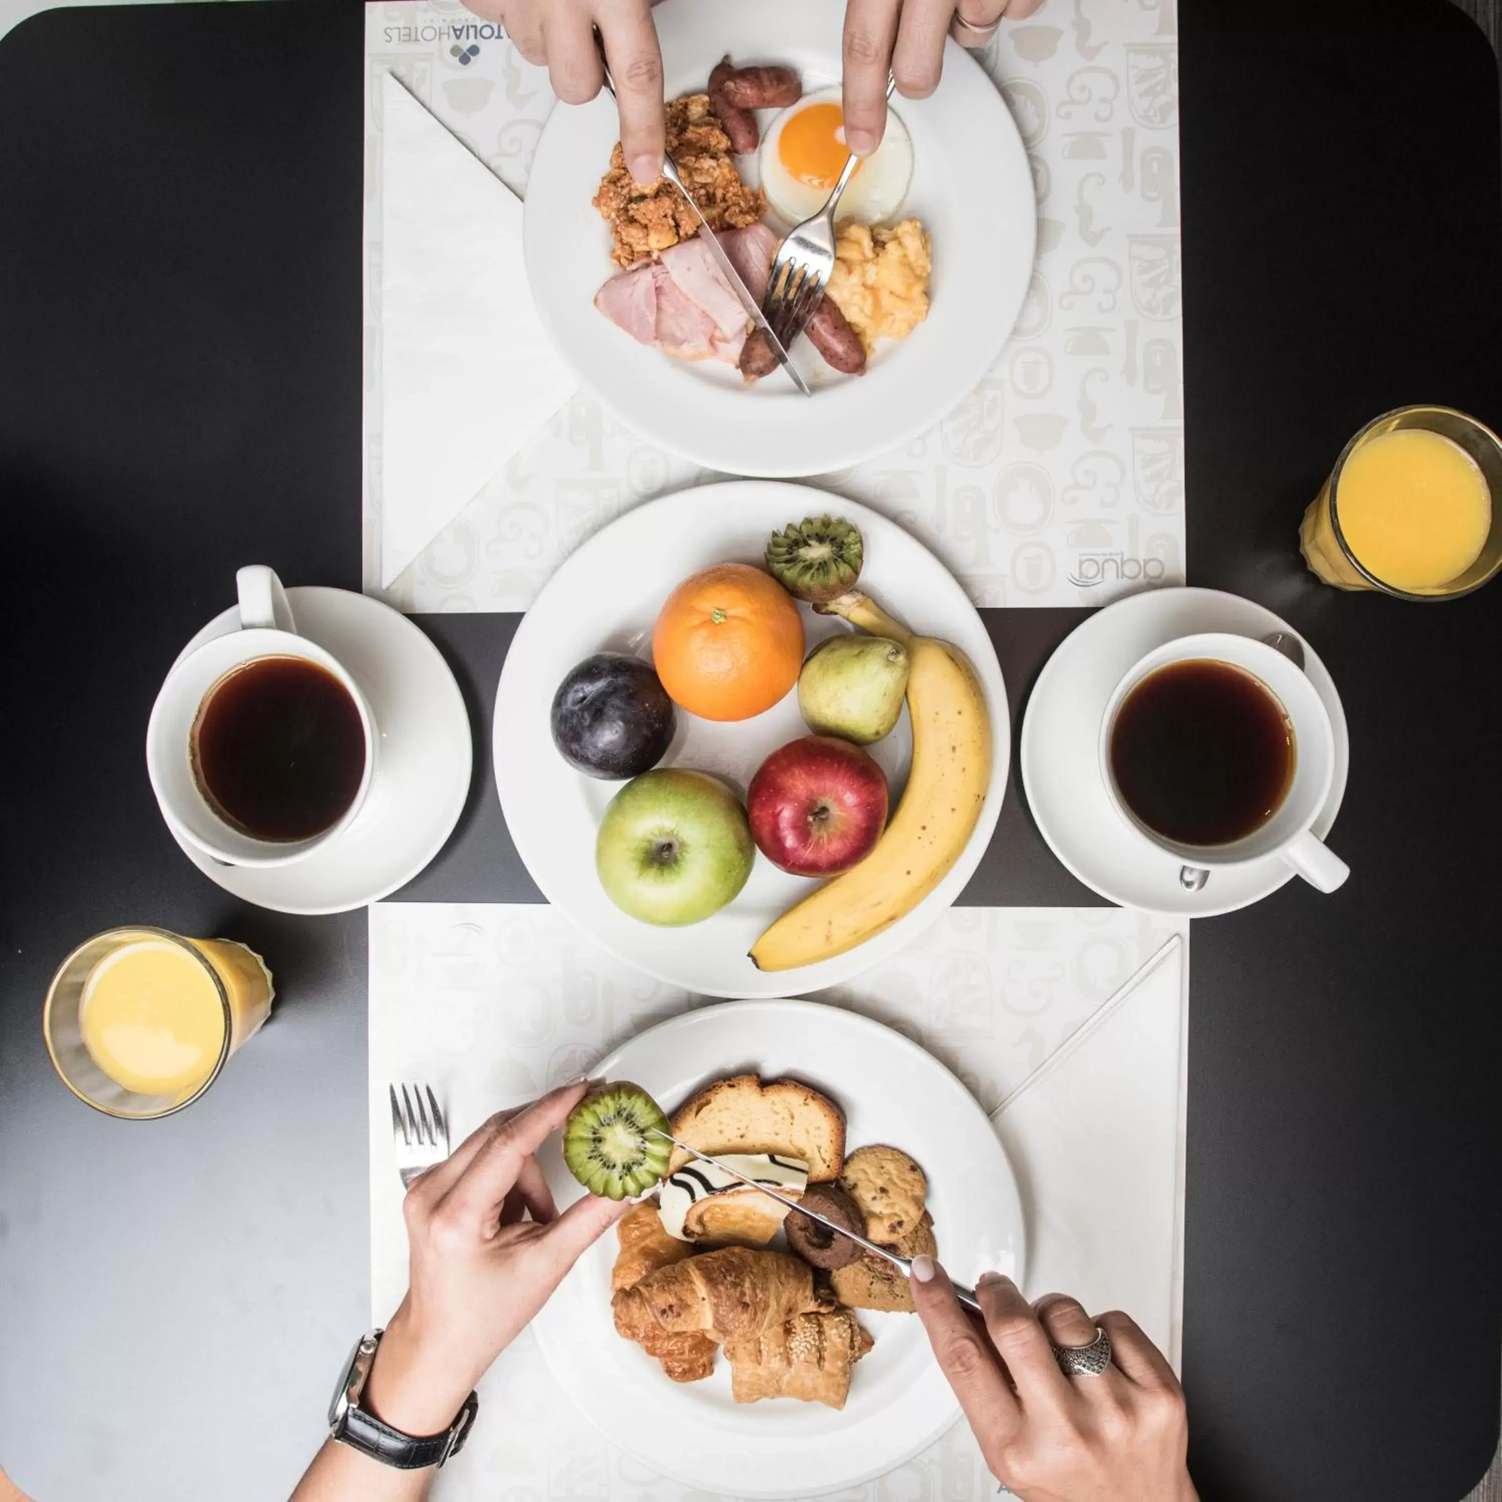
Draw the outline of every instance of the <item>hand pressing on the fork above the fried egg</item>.
<instances>
[{"instance_id":1,"label":"hand pressing on the fork above the fried egg","mask_svg":"<svg viewBox=\"0 0 1502 1502\"><path fill-rule=\"evenodd\" d=\"M904 99L939 87L943 39L984 47L1005 17L1020 21L1042 0L849 0L844 30L846 144L870 156L886 128L886 75Z\"/></svg>"}]
</instances>

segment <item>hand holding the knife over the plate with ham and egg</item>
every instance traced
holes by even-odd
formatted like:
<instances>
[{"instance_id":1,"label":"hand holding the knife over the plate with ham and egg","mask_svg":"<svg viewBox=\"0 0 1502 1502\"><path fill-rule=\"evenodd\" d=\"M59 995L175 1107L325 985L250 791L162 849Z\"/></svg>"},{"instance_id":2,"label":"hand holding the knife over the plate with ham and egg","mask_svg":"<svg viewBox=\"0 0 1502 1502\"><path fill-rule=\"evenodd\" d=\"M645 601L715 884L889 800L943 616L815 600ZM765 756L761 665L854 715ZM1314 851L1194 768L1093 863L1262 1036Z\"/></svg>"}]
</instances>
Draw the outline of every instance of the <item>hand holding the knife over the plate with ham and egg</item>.
<instances>
[{"instance_id":1,"label":"hand holding the knife over the plate with ham and egg","mask_svg":"<svg viewBox=\"0 0 1502 1502\"><path fill-rule=\"evenodd\" d=\"M565 104L587 104L605 84L595 27L605 41L620 111L620 149L638 183L662 174L662 54L650 0L464 0L487 21L499 21L529 62L547 65L553 92Z\"/></svg>"}]
</instances>

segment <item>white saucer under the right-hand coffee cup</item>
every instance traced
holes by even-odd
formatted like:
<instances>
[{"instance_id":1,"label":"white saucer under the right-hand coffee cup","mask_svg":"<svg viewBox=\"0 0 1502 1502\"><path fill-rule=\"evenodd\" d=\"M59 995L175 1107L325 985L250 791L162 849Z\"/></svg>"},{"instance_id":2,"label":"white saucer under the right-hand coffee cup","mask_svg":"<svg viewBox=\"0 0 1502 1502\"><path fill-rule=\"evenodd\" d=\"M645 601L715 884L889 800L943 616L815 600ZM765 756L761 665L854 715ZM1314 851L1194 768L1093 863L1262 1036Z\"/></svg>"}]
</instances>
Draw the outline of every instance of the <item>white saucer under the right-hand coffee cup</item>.
<instances>
[{"instance_id":1,"label":"white saucer under the right-hand coffee cup","mask_svg":"<svg viewBox=\"0 0 1502 1502\"><path fill-rule=\"evenodd\" d=\"M1139 658L1202 631L1265 637L1293 628L1271 610L1215 589L1155 589L1107 605L1071 632L1044 664L1027 700L1021 734L1023 792L1053 853L1086 886L1122 907L1212 918L1248 907L1293 880L1277 856L1217 870L1197 892L1179 883L1179 862L1131 829L1101 777L1099 736L1111 689ZM1299 637L1304 641L1302 637ZM1335 775L1314 834L1329 832L1346 793L1350 737L1340 694L1304 641L1304 670L1329 710ZM1335 843L1338 853L1340 843ZM1329 901L1310 892L1310 901Z\"/></svg>"}]
</instances>

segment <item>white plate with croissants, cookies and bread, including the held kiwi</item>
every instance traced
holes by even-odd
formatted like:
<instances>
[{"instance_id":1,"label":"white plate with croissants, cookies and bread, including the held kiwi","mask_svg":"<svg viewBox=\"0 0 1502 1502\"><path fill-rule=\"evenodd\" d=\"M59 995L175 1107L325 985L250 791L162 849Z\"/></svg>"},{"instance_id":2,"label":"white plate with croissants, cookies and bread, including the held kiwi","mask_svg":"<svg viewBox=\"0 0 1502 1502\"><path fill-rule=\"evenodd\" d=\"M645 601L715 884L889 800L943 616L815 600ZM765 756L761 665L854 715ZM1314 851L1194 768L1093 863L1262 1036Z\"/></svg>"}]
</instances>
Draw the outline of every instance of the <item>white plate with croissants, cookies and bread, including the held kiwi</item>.
<instances>
[{"instance_id":1,"label":"white plate with croissants, cookies and bread, including the held kiwi","mask_svg":"<svg viewBox=\"0 0 1502 1502\"><path fill-rule=\"evenodd\" d=\"M958 1406L906 1278L765 1196L715 1188L650 1128L655 1101L680 1142L871 1241L964 1283L1021 1278L1017 1185L960 1080L880 1023L789 1000L676 1017L595 1075L542 1158L560 1208L575 1175L607 1193L670 1178L533 1322L584 1415L644 1466L737 1497L856 1485L936 1440Z\"/></svg>"}]
</instances>

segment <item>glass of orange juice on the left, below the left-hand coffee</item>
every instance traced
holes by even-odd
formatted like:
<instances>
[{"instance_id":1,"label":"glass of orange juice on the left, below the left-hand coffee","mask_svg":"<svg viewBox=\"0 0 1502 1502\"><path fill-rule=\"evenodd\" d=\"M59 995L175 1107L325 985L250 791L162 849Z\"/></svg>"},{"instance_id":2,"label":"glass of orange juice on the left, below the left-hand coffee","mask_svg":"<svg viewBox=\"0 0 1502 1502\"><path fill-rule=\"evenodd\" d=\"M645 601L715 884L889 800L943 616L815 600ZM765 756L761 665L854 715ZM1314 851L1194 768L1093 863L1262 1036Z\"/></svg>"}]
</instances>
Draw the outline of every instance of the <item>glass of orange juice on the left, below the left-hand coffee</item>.
<instances>
[{"instance_id":1,"label":"glass of orange juice on the left, below the left-hand coffee","mask_svg":"<svg viewBox=\"0 0 1502 1502\"><path fill-rule=\"evenodd\" d=\"M42 1033L63 1083L110 1116L195 1101L272 1009L261 957L144 925L86 939L47 990Z\"/></svg>"}]
</instances>

